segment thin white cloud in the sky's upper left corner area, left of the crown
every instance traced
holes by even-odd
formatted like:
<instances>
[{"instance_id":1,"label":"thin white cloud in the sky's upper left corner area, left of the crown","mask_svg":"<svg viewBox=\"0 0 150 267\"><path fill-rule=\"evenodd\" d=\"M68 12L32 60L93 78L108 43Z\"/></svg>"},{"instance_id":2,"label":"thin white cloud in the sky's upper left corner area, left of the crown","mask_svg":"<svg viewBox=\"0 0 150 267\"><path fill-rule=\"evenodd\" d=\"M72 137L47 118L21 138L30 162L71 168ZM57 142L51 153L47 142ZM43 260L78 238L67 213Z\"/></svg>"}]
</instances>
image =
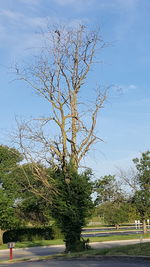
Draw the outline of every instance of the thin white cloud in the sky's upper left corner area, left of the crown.
<instances>
[{"instance_id":1,"label":"thin white cloud in the sky's upper left corner area, left of the crown","mask_svg":"<svg viewBox=\"0 0 150 267\"><path fill-rule=\"evenodd\" d=\"M10 9L0 11L0 47L9 46L9 52L14 56L22 54L23 50L30 53L29 48L42 46L42 31L48 25L69 25L76 27L81 24L80 19L69 20L57 16L33 16L31 14L14 12ZM42 30L42 31L41 31Z\"/></svg>"}]
</instances>

